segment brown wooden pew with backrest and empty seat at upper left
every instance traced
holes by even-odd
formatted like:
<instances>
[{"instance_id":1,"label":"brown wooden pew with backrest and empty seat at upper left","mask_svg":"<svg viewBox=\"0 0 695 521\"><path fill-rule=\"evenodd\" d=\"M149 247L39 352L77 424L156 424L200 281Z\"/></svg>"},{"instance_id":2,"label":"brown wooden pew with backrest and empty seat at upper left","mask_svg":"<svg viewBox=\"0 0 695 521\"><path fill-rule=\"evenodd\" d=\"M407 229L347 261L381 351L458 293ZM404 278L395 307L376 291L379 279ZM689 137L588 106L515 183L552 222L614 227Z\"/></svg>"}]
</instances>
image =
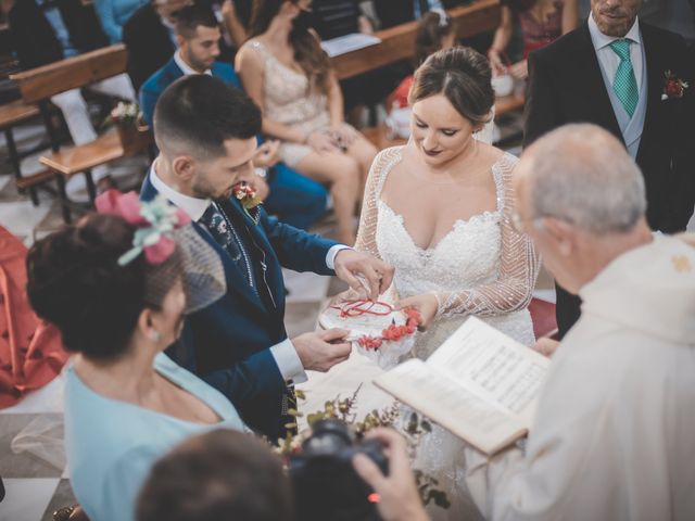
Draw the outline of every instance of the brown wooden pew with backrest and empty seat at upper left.
<instances>
[{"instance_id":1,"label":"brown wooden pew with backrest and empty seat at upper left","mask_svg":"<svg viewBox=\"0 0 695 521\"><path fill-rule=\"evenodd\" d=\"M54 94L71 89L78 89L102 79L111 78L126 71L127 51L124 45L98 49L85 54L51 63L30 71L11 76L16 81L22 99L25 103L37 103L47 122L49 135L54 129L48 117L47 104ZM51 139L56 142L55 139ZM141 141L142 148L149 144L148 139ZM134 151L130 151L130 153ZM90 199L96 198L96 187L91 176L91 168L110 163L128 155L121 145L115 132L108 132L90 143L73 145L42 156L39 161L55 174L63 218L71 221L70 202L65 193L65 180L71 176L84 173L87 179L87 190Z\"/></svg>"}]
</instances>

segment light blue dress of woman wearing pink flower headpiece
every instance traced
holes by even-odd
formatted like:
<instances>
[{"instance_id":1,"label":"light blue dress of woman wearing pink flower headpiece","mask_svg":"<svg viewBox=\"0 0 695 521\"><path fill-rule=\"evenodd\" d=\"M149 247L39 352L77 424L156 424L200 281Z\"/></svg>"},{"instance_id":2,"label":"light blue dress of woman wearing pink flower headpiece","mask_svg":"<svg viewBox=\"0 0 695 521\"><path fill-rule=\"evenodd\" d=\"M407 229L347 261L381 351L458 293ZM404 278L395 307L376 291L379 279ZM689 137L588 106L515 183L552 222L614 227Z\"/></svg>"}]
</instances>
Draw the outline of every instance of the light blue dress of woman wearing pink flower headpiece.
<instances>
[{"instance_id":1,"label":"light blue dress of woman wearing pink flower headpiece","mask_svg":"<svg viewBox=\"0 0 695 521\"><path fill-rule=\"evenodd\" d=\"M65 383L65 449L75 497L91 520L132 521L150 468L185 439L214 429L243 430L235 407L218 391L160 353L154 369L222 418L192 423L106 398L89 389L72 364Z\"/></svg>"}]
</instances>

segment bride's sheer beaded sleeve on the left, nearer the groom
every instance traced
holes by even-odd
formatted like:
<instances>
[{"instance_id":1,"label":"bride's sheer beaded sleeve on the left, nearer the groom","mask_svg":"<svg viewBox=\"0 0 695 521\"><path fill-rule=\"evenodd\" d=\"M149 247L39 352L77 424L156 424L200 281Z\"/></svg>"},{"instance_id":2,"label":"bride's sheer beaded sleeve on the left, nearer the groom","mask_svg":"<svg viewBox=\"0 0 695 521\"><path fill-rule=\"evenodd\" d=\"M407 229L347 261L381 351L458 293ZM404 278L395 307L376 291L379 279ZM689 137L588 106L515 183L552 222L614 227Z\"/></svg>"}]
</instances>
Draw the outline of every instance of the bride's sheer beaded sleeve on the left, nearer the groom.
<instances>
[{"instance_id":1,"label":"bride's sheer beaded sleeve on the left, nearer the groom","mask_svg":"<svg viewBox=\"0 0 695 521\"><path fill-rule=\"evenodd\" d=\"M381 258L379 249L377 247L377 220L379 218L377 202L381 195L381 189L383 188L383 182L387 179L389 169L393 163L401 157L401 149L402 147L393 147L379 152L374 163L371 163L369 176L365 185L365 196L362 203L355 250L366 252L377 258Z\"/></svg>"}]
</instances>

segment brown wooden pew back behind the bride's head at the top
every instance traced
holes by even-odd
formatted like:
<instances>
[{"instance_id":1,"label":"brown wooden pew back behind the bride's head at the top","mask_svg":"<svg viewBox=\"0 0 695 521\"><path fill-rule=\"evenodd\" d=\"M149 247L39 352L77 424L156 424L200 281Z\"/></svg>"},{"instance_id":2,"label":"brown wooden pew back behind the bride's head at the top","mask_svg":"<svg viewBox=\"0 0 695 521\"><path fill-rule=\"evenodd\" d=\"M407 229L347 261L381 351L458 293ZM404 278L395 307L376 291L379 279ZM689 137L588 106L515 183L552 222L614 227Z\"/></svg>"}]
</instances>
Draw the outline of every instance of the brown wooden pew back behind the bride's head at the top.
<instances>
[{"instance_id":1,"label":"brown wooden pew back behind the bride's head at the top","mask_svg":"<svg viewBox=\"0 0 695 521\"><path fill-rule=\"evenodd\" d=\"M458 37L468 38L494 30L500 25L502 11L500 0L476 0L470 5L448 10L448 14L456 24ZM331 60L338 78L350 78L412 58L415 54L416 30L417 22L409 22L376 31L380 43Z\"/></svg>"}]
</instances>

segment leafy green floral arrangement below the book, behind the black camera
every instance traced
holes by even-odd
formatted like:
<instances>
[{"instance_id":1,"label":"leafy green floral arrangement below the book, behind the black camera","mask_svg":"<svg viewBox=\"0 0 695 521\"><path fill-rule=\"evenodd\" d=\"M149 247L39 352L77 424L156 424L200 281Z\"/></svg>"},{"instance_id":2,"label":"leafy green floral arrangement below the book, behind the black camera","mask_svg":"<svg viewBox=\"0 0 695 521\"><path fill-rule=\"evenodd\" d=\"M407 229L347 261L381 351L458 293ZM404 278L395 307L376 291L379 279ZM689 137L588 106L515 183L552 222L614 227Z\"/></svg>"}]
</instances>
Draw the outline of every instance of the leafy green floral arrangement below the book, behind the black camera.
<instances>
[{"instance_id":1,"label":"leafy green floral arrangement below the book, behind the black camera","mask_svg":"<svg viewBox=\"0 0 695 521\"><path fill-rule=\"evenodd\" d=\"M401 416L401 406L397 402L394 402L393 404L391 404L391 406L384 409L375 409L367 414L364 418L358 420L355 407L357 404L357 395L359 394L361 389L362 385L359 385L359 387L355 390L353 395L348 398L340 399L340 396L337 396L336 398L324 404L324 410L318 410L316 412L307 415L306 422L308 423L309 428L319 420L341 420L348 423L354 430L357 439L364 437L367 432L379 427L395 428L402 434L404 434L408 443L410 459L415 459L415 453L417 452L417 447L420 444L420 439L432 431L432 425L429 423L429 421L418 416L416 412L410 412L405 425L403 428L399 428L396 422L399 421ZM295 393L298 399L306 399L306 395L303 391L296 390ZM304 415L296 409L289 409L288 415L294 417L295 421L286 424L285 428L288 430L296 429L296 419L302 418ZM291 432L288 432L287 436L285 439L278 440L278 444L271 445L271 448L283 458L288 458L289 456L301 452L302 444L311 435L311 429L306 429L299 434L292 434ZM415 475L417 490L420 494L420 499L422 500L424 505L428 505L429 503L434 501L434 505L437 505L438 507L450 507L450 501L446 497L446 494L443 491L437 488L437 486L439 486L439 482L434 478L418 469L413 469L413 473Z\"/></svg>"}]
</instances>

